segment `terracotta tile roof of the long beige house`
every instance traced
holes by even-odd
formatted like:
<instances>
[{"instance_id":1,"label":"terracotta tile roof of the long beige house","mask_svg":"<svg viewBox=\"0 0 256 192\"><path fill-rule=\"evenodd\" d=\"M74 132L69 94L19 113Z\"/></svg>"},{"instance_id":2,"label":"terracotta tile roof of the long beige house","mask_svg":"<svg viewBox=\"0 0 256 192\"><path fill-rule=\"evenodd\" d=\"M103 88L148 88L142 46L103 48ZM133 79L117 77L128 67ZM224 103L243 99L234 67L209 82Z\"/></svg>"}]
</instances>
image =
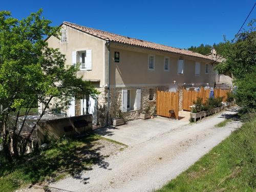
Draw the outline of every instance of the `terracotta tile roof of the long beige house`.
<instances>
[{"instance_id":1,"label":"terracotta tile roof of the long beige house","mask_svg":"<svg viewBox=\"0 0 256 192\"><path fill-rule=\"evenodd\" d=\"M154 49L154 50L159 50L159 51L167 51L167 52L171 52L171 53L177 53L177 54L181 54L181 55L188 55L188 56L212 60L211 58L209 58L205 55L195 53L193 51L188 51L185 49L179 49L179 48L169 47L169 46L165 46L165 45L160 45L160 44L156 44L154 42L140 40L140 39L131 38L131 37L126 37L126 36L118 35L115 33L110 33L110 32L101 31L98 29L93 29L93 28L89 28L89 27L76 25L76 24L69 23L69 22L63 22L63 24L65 24L69 27L72 27L74 29L77 29L79 31L96 36L98 38L104 39L104 40L110 40L113 42L118 42L121 44L126 44L126 45L131 45L131 46L138 46L138 47L149 48L149 49Z\"/></svg>"}]
</instances>

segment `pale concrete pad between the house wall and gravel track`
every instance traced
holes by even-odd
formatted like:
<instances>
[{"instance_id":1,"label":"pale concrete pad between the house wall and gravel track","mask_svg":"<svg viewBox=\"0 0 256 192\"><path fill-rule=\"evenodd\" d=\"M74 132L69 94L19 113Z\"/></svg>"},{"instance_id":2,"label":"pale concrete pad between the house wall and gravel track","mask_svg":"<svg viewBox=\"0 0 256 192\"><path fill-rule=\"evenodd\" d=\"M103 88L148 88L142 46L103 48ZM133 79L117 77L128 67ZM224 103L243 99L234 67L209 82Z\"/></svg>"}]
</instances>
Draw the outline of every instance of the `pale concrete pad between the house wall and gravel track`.
<instances>
[{"instance_id":1,"label":"pale concrete pad between the house wall and gravel track","mask_svg":"<svg viewBox=\"0 0 256 192\"><path fill-rule=\"evenodd\" d=\"M95 133L105 138L134 146L188 123L189 121L185 118L169 120L168 118L158 116L154 119L129 121L127 124L116 127L103 127L95 130Z\"/></svg>"}]
</instances>

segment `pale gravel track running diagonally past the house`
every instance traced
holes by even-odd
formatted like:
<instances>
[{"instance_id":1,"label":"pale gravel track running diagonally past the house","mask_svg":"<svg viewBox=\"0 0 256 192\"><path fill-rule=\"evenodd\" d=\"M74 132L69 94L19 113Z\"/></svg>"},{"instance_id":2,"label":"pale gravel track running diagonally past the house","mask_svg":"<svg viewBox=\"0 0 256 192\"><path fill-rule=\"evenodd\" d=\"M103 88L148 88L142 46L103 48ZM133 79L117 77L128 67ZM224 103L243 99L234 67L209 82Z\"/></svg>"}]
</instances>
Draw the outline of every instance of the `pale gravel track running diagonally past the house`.
<instances>
[{"instance_id":1,"label":"pale gravel track running diagonally past the house","mask_svg":"<svg viewBox=\"0 0 256 192\"><path fill-rule=\"evenodd\" d=\"M234 109L234 108L233 108ZM93 166L82 179L68 177L51 184L52 191L151 191L176 177L239 126L231 121L215 127L236 110L224 111L199 123L183 125L151 140L126 148L105 161L108 167ZM86 184L84 184L86 183Z\"/></svg>"}]
</instances>

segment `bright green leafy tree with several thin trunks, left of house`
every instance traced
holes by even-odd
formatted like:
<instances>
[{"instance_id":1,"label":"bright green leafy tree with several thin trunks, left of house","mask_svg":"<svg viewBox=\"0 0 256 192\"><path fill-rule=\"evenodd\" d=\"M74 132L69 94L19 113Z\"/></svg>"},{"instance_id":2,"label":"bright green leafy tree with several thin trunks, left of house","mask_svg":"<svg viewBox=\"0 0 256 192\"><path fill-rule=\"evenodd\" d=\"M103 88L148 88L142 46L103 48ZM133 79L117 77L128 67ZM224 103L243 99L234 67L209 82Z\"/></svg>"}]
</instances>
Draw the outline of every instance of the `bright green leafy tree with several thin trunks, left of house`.
<instances>
[{"instance_id":1,"label":"bright green leafy tree with several thin trunks, left of house","mask_svg":"<svg viewBox=\"0 0 256 192\"><path fill-rule=\"evenodd\" d=\"M44 108L40 118L46 111L54 113L70 105L73 97L80 94L90 94L96 97L98 92L89 81L77 78L79 63L66 66L65 55L58 49L48 47L45 36L53 35L59 38L59 27L51 27L51 21L41 17L42 10L31 13L27 18L18 20L11 17L9 11L0 12L0 134L3 135L3 147L6 158L12 160L5 129L6 121L15 111L16 122L20 109L26 108L26 116L35 105L43 103ZM17 130L13 126L13 132ZM27 145L36 124L27 136ZM14 157L20 153L17 150L18 133L13 135ZM25 148L21 155L25 153Z\"/></svg>"}]
</instances>

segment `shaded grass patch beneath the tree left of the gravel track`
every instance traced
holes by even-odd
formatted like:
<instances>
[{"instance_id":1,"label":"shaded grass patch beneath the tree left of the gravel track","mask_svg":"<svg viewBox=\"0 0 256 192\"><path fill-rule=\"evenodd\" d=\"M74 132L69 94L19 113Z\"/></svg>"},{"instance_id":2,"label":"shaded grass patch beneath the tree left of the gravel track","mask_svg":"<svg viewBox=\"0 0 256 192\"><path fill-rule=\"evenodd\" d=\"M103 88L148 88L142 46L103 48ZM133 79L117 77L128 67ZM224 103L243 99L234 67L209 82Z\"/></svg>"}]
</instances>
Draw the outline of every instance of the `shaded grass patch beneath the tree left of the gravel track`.
<instances>
[{"instance_id":1,"label":"shaded grass patch beneath the tree left of the gravel track","mask_svg":"<svg viewBox=\"0 0 256 192\"><path fill-rule=\"evenodd\" d=\"M67 175L79 177L82 170L93 164L107 166L105 157L98 151L100 139L105 138L99 135L79 140L62 138L49 144L45 151L35 152L12 163L0 162L0 191L13 191L28 184L57 181Z\"/></svg>"}]
</instances>

